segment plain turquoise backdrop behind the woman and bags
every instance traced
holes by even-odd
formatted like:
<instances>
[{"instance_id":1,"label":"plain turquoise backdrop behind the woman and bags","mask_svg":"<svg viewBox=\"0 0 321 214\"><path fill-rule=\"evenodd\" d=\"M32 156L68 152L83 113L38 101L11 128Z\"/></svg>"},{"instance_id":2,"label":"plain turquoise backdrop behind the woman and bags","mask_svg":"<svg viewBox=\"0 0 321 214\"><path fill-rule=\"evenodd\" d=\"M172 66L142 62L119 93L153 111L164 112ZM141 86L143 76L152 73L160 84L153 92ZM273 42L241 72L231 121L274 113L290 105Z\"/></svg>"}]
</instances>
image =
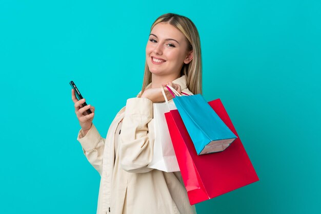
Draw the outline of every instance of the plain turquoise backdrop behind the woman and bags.
<instances>
[{"instance_id":1,"label":"plain turquoise backdrop behind the woman and bags","mask_svg":"<svg viewBox=\"0 0 321 214\"><path fill-rule=\"evenodd\" d=\"M0 1L1 213L96 213L69 81L103 137L140 90L150 26L197 26L203 90L220 98L260 181L198 213L320 213L320 1Z\"/></svg>"}]
</instances>

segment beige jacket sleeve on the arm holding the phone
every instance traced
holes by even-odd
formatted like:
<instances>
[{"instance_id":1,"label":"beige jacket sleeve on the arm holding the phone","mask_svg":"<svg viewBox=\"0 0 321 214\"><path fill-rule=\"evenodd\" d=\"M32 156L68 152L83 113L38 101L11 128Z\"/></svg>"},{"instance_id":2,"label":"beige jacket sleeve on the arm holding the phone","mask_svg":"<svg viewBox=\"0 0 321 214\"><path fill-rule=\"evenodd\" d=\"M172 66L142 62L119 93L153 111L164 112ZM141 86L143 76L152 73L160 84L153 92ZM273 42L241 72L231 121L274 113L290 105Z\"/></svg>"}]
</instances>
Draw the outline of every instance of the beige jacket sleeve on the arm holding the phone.
<instances>
[{"instance_id":1,"label":"beige jacket sleeve on the arm holding the phone","mask_svg":"<svg viewBox=\"0 0 321 214\"><path fill-rule=\"evenodd\" d=\"M98 133L94 124L91 125L90 130L83 137L82 130L79 131L77 140L83 147L83 152L89 163L97 170L99 175L103 171L103 153L105 146L105 138Z\"/></svg>"}]
</instances>

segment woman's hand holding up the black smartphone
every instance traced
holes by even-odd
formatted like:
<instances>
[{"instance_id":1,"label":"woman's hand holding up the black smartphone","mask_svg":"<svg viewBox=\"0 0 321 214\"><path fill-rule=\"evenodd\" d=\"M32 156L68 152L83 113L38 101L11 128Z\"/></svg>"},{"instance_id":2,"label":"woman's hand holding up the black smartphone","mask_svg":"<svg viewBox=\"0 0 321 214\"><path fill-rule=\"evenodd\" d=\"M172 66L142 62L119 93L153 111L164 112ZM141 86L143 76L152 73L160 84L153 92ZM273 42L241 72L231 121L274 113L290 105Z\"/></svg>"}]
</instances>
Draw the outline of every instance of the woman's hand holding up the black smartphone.
<instances>
[{"instance_id":1,"label":"woman's hand holding up the black smartphone","mask_svg":"<svg viewBox=\"0 0 321 214\"><path fill-rule=\"evenodd\" d=\"M84 106L83 103L85 102L85 99L78 100L73 89L71 89L71 98L74 102L75 113L79 120L79 124L82 127L83 134L86 135L92 125L92 120L94 119L95 107L90 104ZM91 114L87 114L86 111L88 109L91 110Z\"/></svg>"}]
</instances>

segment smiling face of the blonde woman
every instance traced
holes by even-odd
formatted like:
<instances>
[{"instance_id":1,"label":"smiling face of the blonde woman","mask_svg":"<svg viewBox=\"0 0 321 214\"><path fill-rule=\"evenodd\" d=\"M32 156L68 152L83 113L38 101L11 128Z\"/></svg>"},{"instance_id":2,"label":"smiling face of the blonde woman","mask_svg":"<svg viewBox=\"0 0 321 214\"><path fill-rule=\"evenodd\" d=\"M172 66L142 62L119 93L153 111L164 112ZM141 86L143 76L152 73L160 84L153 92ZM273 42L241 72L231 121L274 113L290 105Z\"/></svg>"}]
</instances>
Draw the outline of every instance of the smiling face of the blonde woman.
<instances>
[{"instance_id":1,"label":"smiling face of the blonde woman","mask_svg":"<svg viewBox=\"0 0 321 214\"><path fill-rule=\"evenodd\" d=\"M155 75L179 74L183 63L192 60L183 33L168 23L158 23L149 35L146 46L146 62Z\"/></svg>"}]
</instances>

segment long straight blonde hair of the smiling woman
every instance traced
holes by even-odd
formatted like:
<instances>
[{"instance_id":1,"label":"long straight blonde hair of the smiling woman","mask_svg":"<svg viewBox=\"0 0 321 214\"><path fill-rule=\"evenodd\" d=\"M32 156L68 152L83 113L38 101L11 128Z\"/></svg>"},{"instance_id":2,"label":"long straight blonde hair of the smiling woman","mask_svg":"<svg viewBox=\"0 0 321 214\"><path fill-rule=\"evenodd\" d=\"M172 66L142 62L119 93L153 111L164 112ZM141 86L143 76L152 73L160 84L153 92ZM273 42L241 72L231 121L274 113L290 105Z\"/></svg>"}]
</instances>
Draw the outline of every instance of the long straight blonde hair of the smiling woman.
<instances>
[{"instance_id":1,"label":"long straight blonde hair of the smiling woman","mask_svg":"<svg viewBox=\"0 0 321 214\"><path fill-rule=\"evenodd\" d=\"M180 70L180 76L186 76L187 88L193 94L202 94L202 56L200 52L200 39L196 26L188 17L175 13L166 13L155 20L150 31L152 31L153 27L158 23L168 23L185 35L189 44L188 51L193 50L193 59L188 64L184 63L182 70ZM152 75L148 69L147 62L145 61L142 93L151 82Z\"/></svg>"}]
</instances>

